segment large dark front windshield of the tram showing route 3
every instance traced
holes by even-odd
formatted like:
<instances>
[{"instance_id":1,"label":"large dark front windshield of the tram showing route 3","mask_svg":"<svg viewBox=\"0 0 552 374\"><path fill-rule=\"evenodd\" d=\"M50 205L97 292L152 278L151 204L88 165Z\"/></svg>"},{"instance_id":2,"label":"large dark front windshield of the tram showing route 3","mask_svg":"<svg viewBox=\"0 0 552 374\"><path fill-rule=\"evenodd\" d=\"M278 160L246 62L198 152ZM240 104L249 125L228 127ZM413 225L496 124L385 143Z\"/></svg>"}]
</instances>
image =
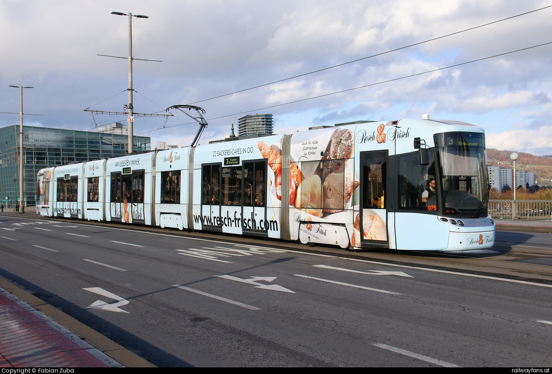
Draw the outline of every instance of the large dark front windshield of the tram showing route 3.
<instances>
[{"instance_id":1,"label":"large dark front windshield of the tram showing route 3","mask_svg":"<svg viewBox=\"0 0 552 374\"><path fill-rule=\"evenodd\" d=\"M444 214L471 216L480 209L480 214L485 215L488 200L485 135L458 131L434 138L439 148Z\"/></svg>"}]
</instances>

